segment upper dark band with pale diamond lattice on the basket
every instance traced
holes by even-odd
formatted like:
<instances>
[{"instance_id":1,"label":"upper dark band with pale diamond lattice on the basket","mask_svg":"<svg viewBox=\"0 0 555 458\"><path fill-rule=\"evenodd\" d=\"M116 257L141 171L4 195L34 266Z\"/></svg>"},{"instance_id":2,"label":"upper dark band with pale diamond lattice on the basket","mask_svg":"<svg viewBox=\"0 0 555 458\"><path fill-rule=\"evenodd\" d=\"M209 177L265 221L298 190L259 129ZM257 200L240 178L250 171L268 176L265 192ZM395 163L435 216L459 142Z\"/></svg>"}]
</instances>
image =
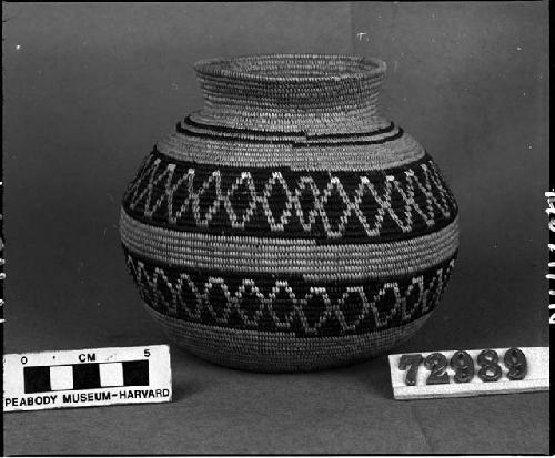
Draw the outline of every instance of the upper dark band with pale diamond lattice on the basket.
<instances>
[{"instance_id":1,"label":"upper dark band with pale diamond lattice on the basket","mask_svg":"<svg viewBox=\"0 0 555 458\"><path fill-rule=\"evenodd\" d=\"M134 218L206 233L395 240L437 231L456 204L430 157L384 172L201 166L150 155L123 206Z\"/></svg>"}]
</instances>

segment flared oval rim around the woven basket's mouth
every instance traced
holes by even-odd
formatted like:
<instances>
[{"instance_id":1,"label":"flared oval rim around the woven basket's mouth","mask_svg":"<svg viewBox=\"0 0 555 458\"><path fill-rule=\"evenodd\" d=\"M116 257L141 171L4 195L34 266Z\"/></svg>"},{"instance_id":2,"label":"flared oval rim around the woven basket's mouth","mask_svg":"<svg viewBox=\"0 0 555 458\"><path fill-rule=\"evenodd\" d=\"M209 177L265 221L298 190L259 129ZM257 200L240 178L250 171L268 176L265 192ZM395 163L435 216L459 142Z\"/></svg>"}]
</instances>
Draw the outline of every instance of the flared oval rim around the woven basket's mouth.
<instances>
[{"instance_id":1,"label":"flared oval rim around the woven basket's mouth","mask_svg":"<svg viewBox=\"0 0 555 458\"><path fill-rule=\"evenodd\" d=\"M241 63L249 61L264 61L275 62L280 60L329 60L331 62L337 61L342 63L352 62L353 72L330 72L329 74L317 75L269 75L260 74L250 71L236 71L229 68L232 63ZM367 58L356 54L246 54L236 55L231 58L210 58L196 61L193 64L194 70L199 75L214 77L214 78L229 78L236 81L261 81L261 82L325 82L325 81L349 81L349 80L363 80L375 78L385 73L386 63L381 59Z\"/></svg>"}]
</instances>

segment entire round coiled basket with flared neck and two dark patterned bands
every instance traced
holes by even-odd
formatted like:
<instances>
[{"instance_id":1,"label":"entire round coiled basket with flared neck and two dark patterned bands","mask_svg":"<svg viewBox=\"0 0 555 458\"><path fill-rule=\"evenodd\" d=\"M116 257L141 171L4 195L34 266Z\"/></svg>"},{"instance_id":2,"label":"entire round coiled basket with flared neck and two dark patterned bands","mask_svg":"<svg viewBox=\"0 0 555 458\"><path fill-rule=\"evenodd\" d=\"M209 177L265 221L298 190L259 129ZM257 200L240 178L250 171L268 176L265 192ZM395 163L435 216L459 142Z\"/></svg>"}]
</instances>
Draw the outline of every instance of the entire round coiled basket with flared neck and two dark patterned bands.
<instances>
[{"instance_id":1,"label":"entire round coiled basket with flared neck and two dark patterned bands","mask_svg":"<svg viewBox=\"0 0 555 458\"><path fill-rule=\"evenodd\" d=\"M444 292L457 206L377 114L385 64L259 55L195 64L204 108L145 159L120 232L169 336L218 364L314 370L410 337Z\"/></svg>"}]
</instances>

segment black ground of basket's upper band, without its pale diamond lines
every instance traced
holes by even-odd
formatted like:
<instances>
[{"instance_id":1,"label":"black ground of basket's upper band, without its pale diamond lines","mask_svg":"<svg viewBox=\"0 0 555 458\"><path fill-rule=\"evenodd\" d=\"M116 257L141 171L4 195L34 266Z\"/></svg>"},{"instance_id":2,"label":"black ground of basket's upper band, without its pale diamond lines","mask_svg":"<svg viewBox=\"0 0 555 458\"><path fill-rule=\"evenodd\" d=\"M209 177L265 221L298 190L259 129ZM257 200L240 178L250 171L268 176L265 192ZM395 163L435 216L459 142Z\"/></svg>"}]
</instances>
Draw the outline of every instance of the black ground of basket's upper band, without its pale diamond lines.
<instances>
[{"instance_id":1,"label":"black ground of basket's upper band, without its pale diamond lines","mask_svg":"<svg viewBox=\"0 0 555 458\"><path fill-rule=\"evenodd\" d=\"M430 234L432 232L440 231L441 228L451 224L457 214L456 203L448 191L448 187L444 183L443 179L438 176L442 186L447 192L447 205L450 208L450 214L445 217L435 206L434 208L434 223L427 225L425 220L412 208L412 230L408 232L403 232L402 228L394 222L389 212L385 212L384 221L382 227L380 230L379 235L369 236L364 232L364 228L359 221L356 214L351 213L349 217L349 223L345 227L344 233L341 236L330 236L330 234L325 231L323 225L323 220L320 214L315 215L315 222L312 224L310 231L305 231L301 225L301 220L299 218L296 212L293 210L292 215L289 218L289 222L285 224L283 231L272 231L269 224L268 216L264 213L263 206L260 202L256 203L255 213L252 216L252 220L245 224L244 228L233 228L231 225L231 221L229 220L229 215L224 205L220 205L218 213L214 215L213 220L210 222L208 226L202 226L196 223L191 213L191 204L189 204L186 211L182 214L182 216L176 222L171 222L169 218L169 207L168 202L164 199L162 201L162 205L152 214L145 215L145 199L133 200L134 195L140 195L140 193L147 187L148 181L150 179L150 170L152 170L152 164L154 161L160 161L159 167L155 171L154 176L161 176L164 171L167 171L168 165L172 164L174 166L172 183L175 183L179 177L184 176L190 169L195 171L195 176L193 180L193 192L199 192L203 183L211 176L214 171L220 172L221 176L221 190L223 195L231 189L232 184L241 176L241 174L245 171L244 167L232 167L232 166L216 166L212 164L198 164L191 161L175 161L170 159L158 151L154 151L152 155L147 161L145 174L142 179L137 177L135 182L139 184L139 190L137 194L132 192L127 192L123 200L123 208L132 218L140 221L144 224L163 227L173 231L183 231L183 232L198 232L204 234L218 234L218 235L236 235L236 236L256 236L256 237L273 237L273 238L310 238L315 240L319 244L342 244L342 243L383 243L390 241L400 241L407 240L425 234ZM286 186L290 192L295 194L295 190L299 187L299 182L302 177L310 176L313 180L314 185L317 187L320 193L323 192L330 184L331 173L335 177L339 179L341 185L347 194L347 197L351 202L354 200L354 193L360 184L361 176L369 177L369 180L376 186L376 190L380 194L383 193L383 189L385 185L385 176L393 175L402 184L402 189L404 189L404 183L407 177L405 176L405 172L412 170L415 173L415 176L420 179L422 183L424 183L424 171L421 165L430 164L430 156L424 156L423 159L415 161L411 164L389 169L385 171L369 171L369 172L327 172L327 171L317 171L317 172L305 172L305 171L292 171L287 167L279 167L279 169L270 169L270 167L256 167L256 169L248 169L249 173L252 176L253 184L255 186L256 195L262 195L263 190L265 189L266 183L271 180L273 172L280 172L283 177ZM139 174L141 176L141 174ZM140 180L140 181L138 181ZM165 186L168 185L167 179L162 179L153 189L151 195L151 205L165 193ZM272 210L274 217L278 217L283 211L284 206L289 202L286 195L283 191L281 184L276 183L275 189L272 194L268 199L268 203L270 208ZM243 190L244 191L244 190ZM426 191L427 192L427 191ZM434 187L431 190L432 194L437 196L437 190ZM304 194L305 193L305 194ZM427 205L427 195L420 189L414 190L414 202L418 205L420 208L425 211ZM184 200L189 196L189 191L186 189L186 184L183 183L178 190L174 190L172 196L172 207L173 212L175 212ZM202 213L208 210L211 205L211 202L214 202L216 199L215 192L213 190L213 185L211 185L208 190L203 192L202 197L200 199L200 205ZM320 197L319 197L320 199ZM239 221L242 221L242 215L246 207L251 204L252 197L248 194L243 194L241 187L236 191L230 199L232 201L232 207L234 212L239 216ZM303 207L303 212L309 212L315 208L315 199L312 192L307 190L303 191L303 194L299 197L300 204ZM132 205L134 202L134 205ZM402 199L402 195L397 191L393 191L390 197L390 204L392 211L398 215L403 221L405 220L404 212L406 202ZM359 203L359 208L363 212L365 217L369 220L369 224L371 226L375 222L375 217L377 216L379 203L374 200L370 194L366 194L363 200ZM330 223L332 226L332 231L337 227L339 218L345 208L345 203L339 197L336 193L333 193L330 197L329 202L324 206L325 214L330 218ZM307 213L304 214L306 217Z\"/></svg>"}]
</instances>

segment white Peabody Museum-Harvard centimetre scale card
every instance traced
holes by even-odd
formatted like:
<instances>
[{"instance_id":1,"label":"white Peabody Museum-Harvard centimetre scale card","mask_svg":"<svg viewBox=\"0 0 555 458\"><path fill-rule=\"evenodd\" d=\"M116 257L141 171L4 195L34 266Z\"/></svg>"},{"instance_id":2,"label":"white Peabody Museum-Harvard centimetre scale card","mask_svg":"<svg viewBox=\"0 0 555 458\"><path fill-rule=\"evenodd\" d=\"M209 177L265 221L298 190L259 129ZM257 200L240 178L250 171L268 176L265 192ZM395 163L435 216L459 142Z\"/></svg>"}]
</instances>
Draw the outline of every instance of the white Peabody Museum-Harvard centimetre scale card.
<instances>
[{"instance_id":1,"label":"white Peabody Museum-Harvard centimetre scale card","mask_svg":"<svg viewBox=\"0 0 555 458\"><path fill-rule=\"evenodd\" d=\"M89 348L3 356L3 410L168 403L170 348Z\"/></svg>"}]
</instances>

